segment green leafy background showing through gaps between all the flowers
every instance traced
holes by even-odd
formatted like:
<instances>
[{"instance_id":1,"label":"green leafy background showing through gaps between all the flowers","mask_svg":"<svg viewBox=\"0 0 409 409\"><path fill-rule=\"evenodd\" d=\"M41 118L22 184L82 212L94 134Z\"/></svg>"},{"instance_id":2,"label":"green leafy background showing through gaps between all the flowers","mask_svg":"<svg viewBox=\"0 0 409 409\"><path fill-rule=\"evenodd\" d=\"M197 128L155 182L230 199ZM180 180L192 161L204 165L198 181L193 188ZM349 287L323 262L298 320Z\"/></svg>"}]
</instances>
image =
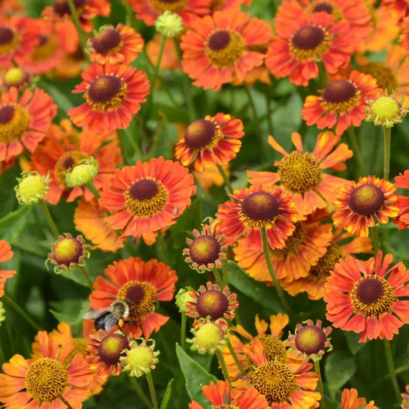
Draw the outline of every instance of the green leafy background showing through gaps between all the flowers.
<instances>
[{"instance_id":1,"label":"green leafy background showing through gaps between all the flowers","mask_svg":"<svg viewBox=\"0 0 409 409\"><path fill-rule=\"evenodd\" d=\"M27 0L27 13L32 17L38 17L44 6L50 3L52 2ZM97 28L103 24L116 25L118 22L126 20L124 9L119 0L112 0L111 3L111 16L108 19L96 19L95 26ZM278 4L279 0L254 0L250 12L253 16L271 20ZM140 32L145 41L151 39L154 34L154 30L147 28L142 22L140 22ZM384 55L382 53L373 54L370 59L382 61ZM142 55L132 65L141 70L146 70L146 64L147 62ZM172 158L173 144L177 140L175 123L189 123L187 110L183 106L183 82L180 74L168 72L165 73L165 76L167 79L165 86L170 90L178 103L178 107L172 105L163 88L155 90L153 101L167 118L168 123L165 125L167 125L168 132L167 137L163 130L158 132L157 138L152 141L152 150L143 157L144 160L159 155ZM66 81L47 77L40 79L38 85L45 89L59 106L55 122L66 117L67 109L79 105L81 102L80 95L71 94L71 90L77 83L79 83L79 79ZM235 188L245 186L245 171L247 169L272 169L274 151L268 146L266 147L268 130L266 97L263 86L264 84L258 83L251 89L257 115L261 122L261 135L257 132L252 111L248 106L247 95L243 88L228 85L223 86L220 92L215 93L213 91L204 92L201 88L192 86L197 118L214 115L216 112L226 112L242 119L244 122L245 137L242 139L243 147L236 160L231 163L234 179L233 186ZM309 88L297 89L287 80L274 81L273 85L267 89L272 99L271 121L274 136L285 149L292 150L290 135L293 131L299 131L303 135L305 149L313 149L318 130L315 127L306 127L301 120L300 111L305 96L314 93L315 89L316 85L314 83ZM152 113L146 108L146 106L143 107L140 118L148 129L154 131L158 126L158 119L155 117L155 111L152 111ZM131 130L132 126L134 124L131 125ZM383 163L382 130L374 127L371 123L364 122L356 131L363 155L365 173L381 175ZM348 141L345 142L348 143ZM131 146L126 145L125 148L127 154L129 153L129 162L141 159L141 157L130 154L130 152L133 152ZM398 124L392 130L391 177L409 167L408 151L409 122L405 119L403 123ZM6 291L16 303L34 317L43 329L51 331L58 322L65 321L72 325L74 335L81 336L81 316L88 310L87 297L89 289L79 272L72 271L69 274L57 276L44 266L44 260L47 258L53 237L38 207L20 207L18 205L13 187L16 184L15 178L19 175L19 172L19 169L14 168L0 177L0 191L3 193L0 201L0 238L8 240L14 251L14 258L6 263L8 265L2 265L2 268L18 271L13 279L8 280ZM348 169L341 176L355 179L353 160L348 161ZM199 228L204 217L214 216L218 203L225 200L226 196L223 188L213 187L210 194L199 188L191 207L179 217L176 225L166 235L165 240L171 265L178 275L177 289L188 285L197 288L200 284L206 282L206 275L198 275L191 270L184 262L181 253L185 247L186 237L191 234L194 228ZM75 204L63 201L57 207L51 207L52 216L57 222L60 232L75 233L72 221L74 209ZM389 223L387 226L380 226L380 235L383 247L394 255L395 262L403 261L406 266L409 266L409 252L407 251L409 231L398 231L395 225ZM137 246L137 254L142 259L149 260L156 257L164 260L164 255L155 245L148 247L143 243L139 243ZM94 281L97 275L103 274L104 268L109 263L126 257L128 255L123 249L116 254L93 251L86 268ZM230 285L238 293L240 318L247 330L254 333L254 316L256 313L261 318L268 320L270 314L281 310L274 289L255 282L246 276L245 272L232 261L229 262L229 279ZM300 312L305 319L325 319L325 303L322 300L310 301L305 294L300 294L297 298L288 297L288 299L292 308ZM178 357L175 350L175 344L180 342L180 314L172 302L162 303L160 310L169 315L171 320L158 333L152 335L156 340L157 349L161 351L160 362L152 374L158 399L161 401L169 380L173 379L171 400L168 407L185 408L191 399L183 388L185 377L177 363ZM190 322L190 319L188 320ZM291 330L293 331L293 328ZM25 321L22 321L12 309L7 308L7 320L0 327L0 339L5 359L8 360L15 353L28 357L34 335L34 330ZM359 391L360 396L375 400L379 408L391 409L393 407L392 390L381 341L375 340L367 344L358 344L358 337L352 332L343 332L337 329L332 334L334 351L326 355L322 361L327 395L326 407L327 409L339 408L342 388L353 387ZM404 326L400 329L399 336L395 336L392 342L396 372L402 390L403 385L409 383L408 337L409 326ZM200 363L216 378L222 379L216 358L212 359L213 357L209 355L200 356L190 351L188 354L193 360L183 356L179 351L179 359L183 365L188 380L188 390L191 394L200 391L200 381L203 381L203 383L209 383L210 381L210 376L206 372L201 372L195 362ZM140 383L146 394L148 394L145 382L141 381ZM88 409L127 409L142 408L143 404L139 402L137 395L131 389L128 379L123 374L119 377L111 377L103 392L89 399L84 403L83 407Z\"/></svg>"}]
</instances>

